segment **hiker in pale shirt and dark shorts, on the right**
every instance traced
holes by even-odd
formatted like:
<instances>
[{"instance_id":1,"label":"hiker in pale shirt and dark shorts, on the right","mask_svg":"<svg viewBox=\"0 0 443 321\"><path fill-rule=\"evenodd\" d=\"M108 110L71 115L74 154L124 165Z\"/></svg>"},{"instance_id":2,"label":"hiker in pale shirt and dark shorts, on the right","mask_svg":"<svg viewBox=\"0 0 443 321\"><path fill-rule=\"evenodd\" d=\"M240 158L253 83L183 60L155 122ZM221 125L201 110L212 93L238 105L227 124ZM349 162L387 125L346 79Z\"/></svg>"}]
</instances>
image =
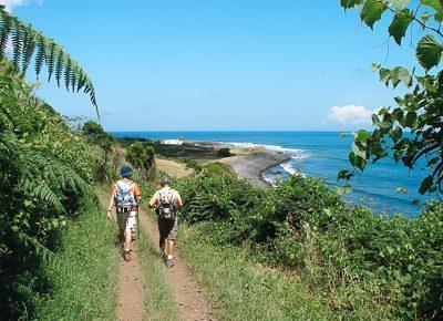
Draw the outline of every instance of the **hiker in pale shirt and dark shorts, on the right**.
<instances>
[{"instance_id":1,"label":"hiker in pale shirt and dark shorts, on the right","mask_svg":"<svg viewBox=\"0 0 443 321\"><path fill-rule=\"evenodd\" d=\"M172 188L169 178L161 180L162 188L155 191L150 200L150 207L155 207L158 221L159 250L167 268L174 266L174 241L177 235L177 213L182 208L182 197ZM165 246L165 239L167 244ZM166 250L166 251L165 251Z\"/></svg>"}]
</instances>

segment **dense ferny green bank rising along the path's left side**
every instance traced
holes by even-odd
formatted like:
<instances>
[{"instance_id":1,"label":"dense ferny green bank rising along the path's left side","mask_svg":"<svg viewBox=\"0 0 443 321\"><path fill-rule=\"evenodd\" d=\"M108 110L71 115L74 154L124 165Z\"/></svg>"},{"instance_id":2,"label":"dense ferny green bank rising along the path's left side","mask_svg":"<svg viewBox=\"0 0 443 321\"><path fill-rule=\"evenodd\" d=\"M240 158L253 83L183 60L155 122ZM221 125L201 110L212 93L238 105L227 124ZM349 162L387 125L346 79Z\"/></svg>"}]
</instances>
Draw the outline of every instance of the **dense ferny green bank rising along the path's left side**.
<instances>
[{"instance_id":1,"label":"dense ferny green bank rising along the path's left side","mask_svg":"<svg viewBox=\"0 0 443 321\"><path fill-rule=\"evenodd\" d=\"M45 288L40 268L52 261L54 234L94 200L100 156L14 72L0 68L0 310L32 314Z\"/></svg>"}]
</instances>

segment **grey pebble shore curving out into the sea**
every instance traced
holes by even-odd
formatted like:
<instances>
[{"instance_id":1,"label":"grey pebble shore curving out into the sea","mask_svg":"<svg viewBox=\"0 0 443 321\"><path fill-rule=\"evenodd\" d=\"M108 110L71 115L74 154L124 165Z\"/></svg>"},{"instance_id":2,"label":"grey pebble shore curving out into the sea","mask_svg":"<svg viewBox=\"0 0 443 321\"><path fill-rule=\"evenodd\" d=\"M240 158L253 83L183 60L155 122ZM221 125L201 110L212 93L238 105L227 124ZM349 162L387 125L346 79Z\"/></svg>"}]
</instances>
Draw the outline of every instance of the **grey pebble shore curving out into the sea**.
<instances>
[{"instance_id":1,"label":"grey pebble shore curving out into the sea","mask_svg":"<svg viewBox=\"0 0 443 321\"><path fill-rule=\"evenodd\" d=\"M288 155L266 149L262 146L243 147L228 143L217 142L193 142L194 144L206 145L214 148L227 147L234 156L217 159L215 162L228 165L237 174L238 178L246 179L260 188L270 188L272 185L265 180L262 174L272 166L291 159Z\"/></svg>"}]
</instances>

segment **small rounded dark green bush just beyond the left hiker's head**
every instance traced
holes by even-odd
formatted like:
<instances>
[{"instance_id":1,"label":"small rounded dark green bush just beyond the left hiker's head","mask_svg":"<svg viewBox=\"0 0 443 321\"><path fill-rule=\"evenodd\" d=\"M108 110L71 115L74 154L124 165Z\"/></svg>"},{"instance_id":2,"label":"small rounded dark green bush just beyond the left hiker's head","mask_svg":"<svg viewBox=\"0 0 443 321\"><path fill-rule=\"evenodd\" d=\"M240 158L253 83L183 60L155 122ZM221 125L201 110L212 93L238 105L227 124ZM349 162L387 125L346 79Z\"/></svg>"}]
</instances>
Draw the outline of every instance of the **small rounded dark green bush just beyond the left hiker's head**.
<instances>
[{"instance_id":1,"label":"small rounded dark green bush just beyond the left hiker's head","mask_svg":"<svg viewBox=\"0 0 443 321\"><path fill-rule=\"evenodd\" d=\"M126 148L126 159L141 172L143 179L152 180L155 176L155 153L152 146L135 142Z\"/></svg>"}]
</instances>

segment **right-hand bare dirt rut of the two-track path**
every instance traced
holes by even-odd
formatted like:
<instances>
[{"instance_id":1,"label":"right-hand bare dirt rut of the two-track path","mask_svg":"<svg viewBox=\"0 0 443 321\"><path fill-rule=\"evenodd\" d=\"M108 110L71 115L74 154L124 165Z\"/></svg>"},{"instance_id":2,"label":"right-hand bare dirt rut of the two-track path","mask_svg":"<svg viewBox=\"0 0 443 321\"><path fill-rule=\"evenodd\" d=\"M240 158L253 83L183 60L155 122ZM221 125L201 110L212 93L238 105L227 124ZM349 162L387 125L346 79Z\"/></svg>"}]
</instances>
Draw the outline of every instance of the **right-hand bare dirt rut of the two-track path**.
<instances>
[{"instance_id":1,"label":"right-hand bare dirt rut of the two-track path","mask_svg":"<svg viewBox=\"0 0 443 321\"><path fill-rule=\"evenodd\" d=\"M140 211L140 221L157 248L157 225L143 210ZM171 269L165 268L165 273L177 303L181 320L215 320L210 315L205 290L194 282L186 263L177 253L175 266Z\"/></svg>"}]
</instances>

